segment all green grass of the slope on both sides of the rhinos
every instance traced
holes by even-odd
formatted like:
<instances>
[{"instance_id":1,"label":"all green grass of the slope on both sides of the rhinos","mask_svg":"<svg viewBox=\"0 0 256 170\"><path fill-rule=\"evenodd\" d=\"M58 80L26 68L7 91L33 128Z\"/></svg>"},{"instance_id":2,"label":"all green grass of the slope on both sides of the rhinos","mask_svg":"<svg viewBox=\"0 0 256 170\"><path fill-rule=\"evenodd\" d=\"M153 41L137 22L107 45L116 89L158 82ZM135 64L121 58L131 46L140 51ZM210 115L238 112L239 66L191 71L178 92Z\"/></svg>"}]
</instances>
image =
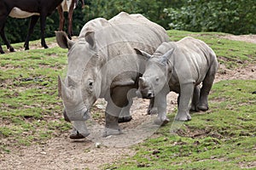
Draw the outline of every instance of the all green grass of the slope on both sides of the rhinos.
<instances>
[{"instance_id":1,"label":"all green grass of the slope on both sides of the rhinos","mask_svg":"<svg viewBox=\"0 0 256 170\"><path fill-rule=\"evenodd\" d=\"M222 33L169 31L172 40L197 37L228 68L256 63L256 44L222 38ZM55 38L47 39L53 42ZM32 42L32 43L38 43ZM22 43L15 44L15 48ZM20 144L44 143L67 131L57 97L57 75L65 72L67 50L34 49L0 55L0 153ZM131 169L250 167L256 161L256 81L221 81L210 96L210 111L195 113L176 134L171 124L158 138L134 146L137 155L106 167ZM174 114L169 115L173 120Z\"/></svg>"}]
</instances>

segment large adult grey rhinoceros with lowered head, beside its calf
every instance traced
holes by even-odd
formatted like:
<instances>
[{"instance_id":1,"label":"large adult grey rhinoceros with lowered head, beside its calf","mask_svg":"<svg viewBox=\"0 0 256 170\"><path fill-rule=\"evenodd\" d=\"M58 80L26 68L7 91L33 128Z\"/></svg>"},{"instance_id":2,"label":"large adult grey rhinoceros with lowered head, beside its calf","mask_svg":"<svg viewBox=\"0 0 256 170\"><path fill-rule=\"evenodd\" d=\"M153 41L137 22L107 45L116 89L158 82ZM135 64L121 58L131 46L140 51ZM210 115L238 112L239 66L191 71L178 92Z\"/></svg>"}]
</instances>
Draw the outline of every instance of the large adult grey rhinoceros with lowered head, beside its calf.
<instances>
[{"instance_id":1,"label":"large adult grey rhinoceros with lowered head, beside its calf","mask_svg":"<svg viewBox=\"0 0 256 170\"><path fill-rule=\"evenodd\" d=\"M59 92L67 117L78 131L72 135L89 135L85 120L98 98L108 101L103 135L121 133L118 117L122 112L129 114L136 91L131 89L138 87L145 69L145 60L134 48L153 54L161 42L169 41L165 29L141 14L122 12L111 20L90 20L76 42L64 32L56 32L56 40L61 48L68 48L67 77L59 81Z\"/></svg>"}]
</instances>

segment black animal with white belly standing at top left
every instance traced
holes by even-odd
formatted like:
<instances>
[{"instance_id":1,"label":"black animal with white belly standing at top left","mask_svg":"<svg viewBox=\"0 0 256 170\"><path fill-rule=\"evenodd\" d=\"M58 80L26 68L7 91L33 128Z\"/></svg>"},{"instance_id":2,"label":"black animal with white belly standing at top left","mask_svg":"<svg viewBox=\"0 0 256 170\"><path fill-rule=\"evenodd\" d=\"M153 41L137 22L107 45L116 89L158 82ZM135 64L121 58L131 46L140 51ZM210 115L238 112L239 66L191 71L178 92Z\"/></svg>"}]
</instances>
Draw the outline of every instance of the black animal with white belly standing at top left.
<instances>
[{"instance_id":1,"label":"black animal with white belly standing at top left","mask_svg":"<svg viewBox=\"0 0 256 170\"><path fill-rule=\"evenodd\" d=\"M4 33L4 26L8 16L13 18L32 17L26 36L26 41L24 43L25 49L29 49L29 39L34 30L34 26L36 25L38 19L40 19L41 44L44 48L48 48L44 40L46 17L52 14L55 8L57 8L62 1L63 0L0 0L0 35L9 51L14 52L15 48L10 45ZM0 53L4 54L1 44Z\"/></svg>"}]
</instances>

